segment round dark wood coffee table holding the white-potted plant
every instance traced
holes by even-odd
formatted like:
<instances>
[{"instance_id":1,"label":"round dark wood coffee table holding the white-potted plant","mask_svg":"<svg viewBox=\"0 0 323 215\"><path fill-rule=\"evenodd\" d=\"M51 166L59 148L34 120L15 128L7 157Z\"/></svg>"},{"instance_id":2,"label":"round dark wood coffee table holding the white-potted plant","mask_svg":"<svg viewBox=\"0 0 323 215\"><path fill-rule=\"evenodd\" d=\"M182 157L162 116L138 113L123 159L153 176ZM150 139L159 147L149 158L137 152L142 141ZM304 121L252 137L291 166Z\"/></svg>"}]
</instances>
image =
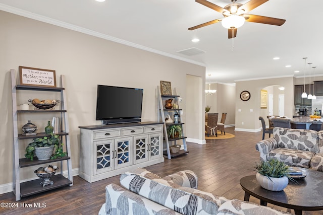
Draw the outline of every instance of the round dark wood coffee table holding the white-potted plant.
<instances>
[{"instance_id":1,"label":"round dark wood coffee table holding the white-potted plant","mask_svg":"<svg viewBox=\"0 0 323 215\"><path fill-rule=\"evenodd\" d=\"M323 173L316 170L301 169L305 178L289 182L288 186L279 192L262 188L255 175L240 179L240 185L245 191L244 200L249 201L250 195L260 199L260 205L267 203L294 209L295 214L302 215L303 210L323 210Z\"/></svg>"}]
</instances>

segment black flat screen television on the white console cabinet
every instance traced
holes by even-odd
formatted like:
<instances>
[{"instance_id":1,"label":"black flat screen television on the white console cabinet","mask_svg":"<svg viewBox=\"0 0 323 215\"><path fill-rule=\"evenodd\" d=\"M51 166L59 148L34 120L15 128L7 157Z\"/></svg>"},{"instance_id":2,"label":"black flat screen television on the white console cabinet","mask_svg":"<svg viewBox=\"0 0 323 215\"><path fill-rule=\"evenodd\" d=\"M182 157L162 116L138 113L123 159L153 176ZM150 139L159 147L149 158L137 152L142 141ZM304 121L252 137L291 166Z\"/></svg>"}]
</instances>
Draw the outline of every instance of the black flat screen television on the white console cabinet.
<instances>
[{"instance_id":1,"label":"black flat screen television on the white console cabinet","mask_svg":"<svg viewBox=\"0 0 323 215\"><path fill-rule=\"evenodd\" d=\"M96 120L102 124L141 121L143 89L97 85Z\"/></svg>"}]
</instances>

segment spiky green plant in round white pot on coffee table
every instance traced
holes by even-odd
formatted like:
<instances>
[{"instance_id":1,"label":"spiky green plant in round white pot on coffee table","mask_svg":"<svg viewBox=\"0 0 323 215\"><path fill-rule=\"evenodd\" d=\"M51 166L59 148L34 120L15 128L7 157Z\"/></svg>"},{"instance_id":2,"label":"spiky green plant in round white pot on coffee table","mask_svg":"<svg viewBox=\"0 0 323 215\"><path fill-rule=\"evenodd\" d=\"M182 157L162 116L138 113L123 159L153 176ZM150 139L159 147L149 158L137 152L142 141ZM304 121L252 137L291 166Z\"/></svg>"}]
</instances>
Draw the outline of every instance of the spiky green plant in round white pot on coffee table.
<instances>
[{"instance_id":1,"label":"spiky green plant in round white pot on coffee table","mask_svg":"<svg viewBox=\"0 0 323 215\"><path fill-rule=\"evenodd\" d=\"M267 190L282 191L288 185L288 179L295 181L289 176L288 165L277 159L256 163L254 168L257 181Z\"/></svg>"}]
</instances>

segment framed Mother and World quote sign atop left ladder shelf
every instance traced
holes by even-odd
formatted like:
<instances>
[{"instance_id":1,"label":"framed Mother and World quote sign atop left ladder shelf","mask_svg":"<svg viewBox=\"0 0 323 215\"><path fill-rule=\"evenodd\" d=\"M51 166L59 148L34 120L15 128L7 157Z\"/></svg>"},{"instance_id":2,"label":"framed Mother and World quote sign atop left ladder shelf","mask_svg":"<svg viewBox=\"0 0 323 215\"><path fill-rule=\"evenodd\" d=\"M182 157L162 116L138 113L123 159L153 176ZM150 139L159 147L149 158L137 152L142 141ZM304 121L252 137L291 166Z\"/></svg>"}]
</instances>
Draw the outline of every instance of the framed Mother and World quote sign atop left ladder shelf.
<instances>
[{"instance_id":1,"label":"framed Mother and World quote sign atop left ladder shelf","mask_svg":"<svg viewBox=\"0 0 323 215\"><path fill-rule=\"evenodd\" d=\"M19 66L20 84L40 87L56 87L55 70Z\"/></svg>"}]
</instances>

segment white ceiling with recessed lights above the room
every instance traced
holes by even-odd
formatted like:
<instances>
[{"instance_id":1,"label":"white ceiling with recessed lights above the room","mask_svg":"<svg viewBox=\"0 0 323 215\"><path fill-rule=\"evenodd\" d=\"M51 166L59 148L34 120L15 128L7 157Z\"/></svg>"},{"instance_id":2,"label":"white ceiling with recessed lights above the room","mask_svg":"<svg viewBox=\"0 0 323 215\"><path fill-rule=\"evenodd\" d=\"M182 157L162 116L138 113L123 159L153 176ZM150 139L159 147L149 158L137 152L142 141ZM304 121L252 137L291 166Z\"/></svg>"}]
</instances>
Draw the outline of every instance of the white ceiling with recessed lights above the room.
<instances>
[{"instance_id":1,"label":"white ceiling with recessed lights above the room","mask_svg":"<svg viewBox=\"0 0 323 215\"><path fill-rule=\"evenodd\" d=\"M209 0L224 7L230 0ZM237 1L245 4L248 0ZM304 76L304 60L323 75L321 1L269 0L250 14L285 19L282 26L246 22L228 39L221 23L189 27L223 18L194 0L0 0L0 10L37 20L80 27L93 35L206 66L206 82L234 83L263 77ZM49 19L50 18L50 19ZM59 22L60 21L60 22ZM191 42L199 38L197 43ZM186 56L179 50L205 53ZM273 57L279 56L279 60ZM285 67L291 65L291 67ZM295 70L300 73L295 74ZM309 74L306 63L306 73ZM311 73L313 70L311 69ZM208 77L211 74L211 77Z\"/></svg>"}]
</instances>

